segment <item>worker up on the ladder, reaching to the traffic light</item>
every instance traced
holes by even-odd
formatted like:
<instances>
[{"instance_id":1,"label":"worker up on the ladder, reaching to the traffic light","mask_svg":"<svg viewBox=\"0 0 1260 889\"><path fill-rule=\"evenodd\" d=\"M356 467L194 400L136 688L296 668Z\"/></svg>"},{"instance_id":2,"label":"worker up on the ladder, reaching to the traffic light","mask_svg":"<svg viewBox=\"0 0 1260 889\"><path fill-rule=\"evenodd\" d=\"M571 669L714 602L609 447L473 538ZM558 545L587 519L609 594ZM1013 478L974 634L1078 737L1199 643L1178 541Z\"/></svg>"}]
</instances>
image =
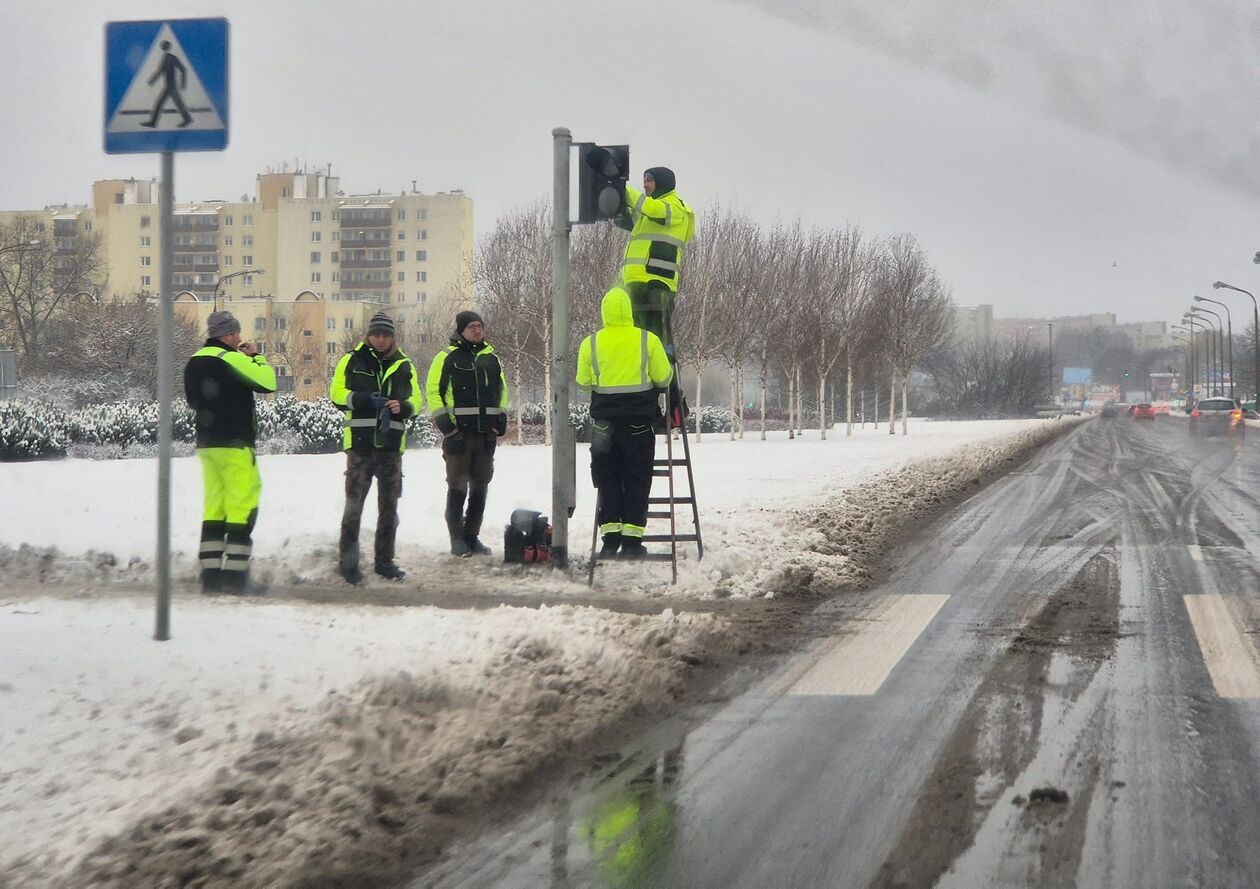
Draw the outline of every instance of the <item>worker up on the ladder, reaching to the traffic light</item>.
<instances>
[{"instance_id":1,"label":"worker up on the ladder, reaching to the traffic light","mask_svg":"<svg viewBox=\"0 0 1260 889\"><path fill-rule=\"evenodd\" d=\"M636 326L655 334L670 364L678 364L670 319L683 269L683 252L696 234L696 214L675 189L674 171L654 166L643 174L643 191L626 183L626 210L617 224L630 232L621 262L621 286L630 295ZM677 374L669 387L669 424L683 424L683 394Z\"/></svg>"}]
</instances>

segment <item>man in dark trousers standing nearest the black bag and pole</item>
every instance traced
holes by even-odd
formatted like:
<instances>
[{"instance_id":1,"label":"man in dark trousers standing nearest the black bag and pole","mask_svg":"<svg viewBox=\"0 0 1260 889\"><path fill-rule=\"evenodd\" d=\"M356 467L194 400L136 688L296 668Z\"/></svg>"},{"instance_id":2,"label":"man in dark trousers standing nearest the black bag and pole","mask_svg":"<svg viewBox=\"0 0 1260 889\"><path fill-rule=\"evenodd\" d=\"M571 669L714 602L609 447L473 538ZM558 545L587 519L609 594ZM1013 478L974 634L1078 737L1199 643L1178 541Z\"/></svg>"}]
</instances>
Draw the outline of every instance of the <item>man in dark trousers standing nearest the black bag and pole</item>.
<instances>
[{"instance_id":1,"label":"man in dark trousers standing nearest the black bag and pole","mask_svg":"<svg viewBox=\"0 0 1260 889\"><path fill-rule=\"evenodd\" d=\"M486 555L490 548L479 535L494 477L494 448L508 431L508 378L485 341L480 315L455 316L451 345L428 365L425 389L428 416L442 436L451 555Z\"/></svg>"}]
</instances>

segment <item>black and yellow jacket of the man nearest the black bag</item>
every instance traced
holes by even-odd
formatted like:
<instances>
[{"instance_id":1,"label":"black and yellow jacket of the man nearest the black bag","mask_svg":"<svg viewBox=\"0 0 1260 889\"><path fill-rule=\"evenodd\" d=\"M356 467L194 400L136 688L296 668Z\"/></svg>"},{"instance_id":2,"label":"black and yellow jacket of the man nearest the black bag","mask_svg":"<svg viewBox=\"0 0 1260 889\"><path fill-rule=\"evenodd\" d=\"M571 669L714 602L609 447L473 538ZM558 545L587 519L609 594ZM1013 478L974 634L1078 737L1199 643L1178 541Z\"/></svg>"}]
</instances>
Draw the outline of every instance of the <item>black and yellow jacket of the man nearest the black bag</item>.
<instances>
[{"instance_id":1,"label":"black and yellow jacket of the man nearest the black bag","mask_svg":"<svg viewBox=\"0 0 1260 889\"><path fill-rule=\"evenodd\" d=\"M494 432L507 421L508 378L489 343L452 336L428 365L425 394L428 416L444 436L456 429Z\"/></svg>"}]
</instances>

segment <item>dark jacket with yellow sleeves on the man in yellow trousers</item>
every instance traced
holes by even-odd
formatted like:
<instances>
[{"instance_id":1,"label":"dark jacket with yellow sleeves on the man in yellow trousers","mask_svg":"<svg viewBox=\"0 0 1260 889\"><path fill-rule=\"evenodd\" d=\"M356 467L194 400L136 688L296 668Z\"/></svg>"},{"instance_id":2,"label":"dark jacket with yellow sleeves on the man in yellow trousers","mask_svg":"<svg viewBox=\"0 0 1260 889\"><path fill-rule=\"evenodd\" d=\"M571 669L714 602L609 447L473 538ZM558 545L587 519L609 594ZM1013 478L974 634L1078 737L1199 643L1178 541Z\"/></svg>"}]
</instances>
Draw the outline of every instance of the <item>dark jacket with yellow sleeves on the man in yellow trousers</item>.
<instances>
[{"instance_id":1,"label":"dark jacket with yellow sleeves on the man in yellow trousers","mask_svg":"<svg viewBox=\"0 0 1260 889\"><path fill-rule=\"evenodd\" d=\"M184 397L193 409L197 447L253 447L256 392L276 390L276 370L262 355L207 340L184 368Z\"/></svg>"}]
</instances>

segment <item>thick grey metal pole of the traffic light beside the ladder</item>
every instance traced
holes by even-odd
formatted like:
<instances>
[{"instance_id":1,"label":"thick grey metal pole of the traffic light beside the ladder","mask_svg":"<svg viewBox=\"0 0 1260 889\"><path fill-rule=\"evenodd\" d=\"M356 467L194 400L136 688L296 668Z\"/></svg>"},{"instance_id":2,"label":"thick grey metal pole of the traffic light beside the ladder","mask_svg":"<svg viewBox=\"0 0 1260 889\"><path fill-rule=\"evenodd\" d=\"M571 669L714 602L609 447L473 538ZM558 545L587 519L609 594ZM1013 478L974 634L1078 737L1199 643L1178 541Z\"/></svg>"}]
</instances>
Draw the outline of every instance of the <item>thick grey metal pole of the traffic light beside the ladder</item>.
<instances>
[{"instance_id":1,"label":"thick grey metal pole of the traffic light beside the ladder","mask_svg":"<svg viewBox=\"0 0 1260 889\"><path fill-rule=\"evenodd\" d=\"M552 130L552 564L568 567L568 519L577 497L577 434L568 422L575 368L568 343L568 159L573 136Z\"/></svg>"}]
</instances>

